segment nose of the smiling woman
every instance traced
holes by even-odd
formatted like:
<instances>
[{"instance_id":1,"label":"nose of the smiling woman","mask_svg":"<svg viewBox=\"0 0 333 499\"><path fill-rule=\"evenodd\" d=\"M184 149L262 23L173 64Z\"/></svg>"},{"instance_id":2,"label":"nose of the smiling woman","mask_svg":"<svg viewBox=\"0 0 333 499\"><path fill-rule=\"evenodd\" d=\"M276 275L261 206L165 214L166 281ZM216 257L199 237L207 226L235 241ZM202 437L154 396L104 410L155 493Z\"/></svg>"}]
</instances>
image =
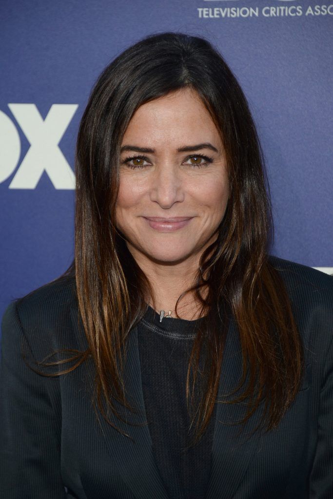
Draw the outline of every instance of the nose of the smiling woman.
<instances>
[{"instance_id":1,"label":"nose of the smiling woman","mask_svg":"<svg viewBox=\"0 0 333 499\"><path fill-rule=\"evenodd\" d=\"M184 201L183 181L176 166L165 164L155 170L151 179L150 200L163 209Z\"/></svg>"}]
</instances>

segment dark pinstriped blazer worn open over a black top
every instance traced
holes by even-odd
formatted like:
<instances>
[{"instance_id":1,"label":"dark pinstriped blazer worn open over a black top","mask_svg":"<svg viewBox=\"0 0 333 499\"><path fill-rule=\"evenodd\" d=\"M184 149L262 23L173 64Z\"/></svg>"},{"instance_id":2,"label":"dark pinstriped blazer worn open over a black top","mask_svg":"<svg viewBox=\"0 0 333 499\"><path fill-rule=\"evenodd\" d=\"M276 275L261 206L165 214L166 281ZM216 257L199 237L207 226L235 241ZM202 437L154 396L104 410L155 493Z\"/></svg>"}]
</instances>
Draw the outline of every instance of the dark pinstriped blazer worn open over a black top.
<instances>
[{"instance_id":1,"label":"dark pinstriped blazer worn open over a black top","mask_svg":"<svg viewBox=\"0 0 333 499\"><path fill-rule=\"evenodd\" d=\"M207 499L333 498L333 278L272 258L281 271L302 334L306 372L279 427L255 432L261 408L243 433L228 423L244 406L218 404ZM113 418L134 442L99 417L90 399L88 364L60 377L35 374L21 358L29 346L42 360L52 350L82 349L73 279L52 282L11 303L2 320L0 497L5 499L167 499L148 426ZM220 394L242 370L231 322ZM129 336L125 382L144 422L137 330Z\"/></svg>"}]
</instances>

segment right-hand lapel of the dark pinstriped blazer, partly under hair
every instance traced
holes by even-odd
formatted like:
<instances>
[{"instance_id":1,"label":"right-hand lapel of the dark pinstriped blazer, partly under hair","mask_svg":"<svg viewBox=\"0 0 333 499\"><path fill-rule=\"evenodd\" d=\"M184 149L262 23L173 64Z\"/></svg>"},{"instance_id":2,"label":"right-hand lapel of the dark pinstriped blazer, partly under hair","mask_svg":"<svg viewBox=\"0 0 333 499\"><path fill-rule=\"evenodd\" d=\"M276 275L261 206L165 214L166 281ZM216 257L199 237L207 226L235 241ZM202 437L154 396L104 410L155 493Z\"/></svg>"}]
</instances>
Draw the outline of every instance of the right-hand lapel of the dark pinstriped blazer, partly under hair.
<instances>
[{"instance_id":1,"label":"right-hand lapel of the dark pinstriped blazer, partly under hair","mask_svg":"<svg viewBox=\"0 0 333 499\"><path fill-rule=\"evenodd\" d=\"M242 374L242 354L236 324L231 320L226 338L220 375L218 400L231 391ZM216 407L211 472L206 499L233 498L246 474L251 458L260 442L259 423L262 407L244 425L233 425L246 414L246 405L221 404Z\"/></svg>"}]
</instances>

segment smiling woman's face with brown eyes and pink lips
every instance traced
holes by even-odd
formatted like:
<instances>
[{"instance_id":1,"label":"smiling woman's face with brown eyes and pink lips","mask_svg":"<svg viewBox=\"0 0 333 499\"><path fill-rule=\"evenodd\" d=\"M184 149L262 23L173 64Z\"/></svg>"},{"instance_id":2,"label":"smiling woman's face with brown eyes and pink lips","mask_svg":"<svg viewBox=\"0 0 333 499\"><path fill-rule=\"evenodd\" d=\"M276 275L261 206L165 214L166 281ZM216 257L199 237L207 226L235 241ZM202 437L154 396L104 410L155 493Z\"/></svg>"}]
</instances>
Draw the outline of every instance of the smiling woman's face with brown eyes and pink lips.
<instances>
[{"instance_id":1,"label":"smiling woman's face with brown eyes and pink lips","mask_svg":"<svg viewBox=\"0 0 333 499\"><path fill-rule=\"evenodd\" d=\"M139 107L120 164L116 221L135 260L197 261L229 193L223 144L198 94L181 89Z\"/></svg>"}]
</instances>

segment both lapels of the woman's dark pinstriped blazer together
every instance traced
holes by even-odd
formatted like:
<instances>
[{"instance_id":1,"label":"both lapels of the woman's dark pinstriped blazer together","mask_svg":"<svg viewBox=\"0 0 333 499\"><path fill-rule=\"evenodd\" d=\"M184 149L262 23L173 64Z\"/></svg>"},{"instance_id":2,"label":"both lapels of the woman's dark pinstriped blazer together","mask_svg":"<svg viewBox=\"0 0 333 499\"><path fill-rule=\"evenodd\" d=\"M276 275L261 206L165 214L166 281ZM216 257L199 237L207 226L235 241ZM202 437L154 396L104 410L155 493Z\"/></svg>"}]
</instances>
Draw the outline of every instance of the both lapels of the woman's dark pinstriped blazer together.
<instances>
[{"instance_id":1,"label":"both lapels of the woman's dark pinstriped blazer together","mask_svg":"<svg viewBox=\"0 0 333 499\"><path fill-rule=\"evenodd\" d=\"M70 314L78 344L81 349L86 349L87 342L82 323L78 323L77 308L72 307ZM242 358L238 332L235 323L231 321L220 374L218 400L235 386L235 383L240 379L241 372ZM91 377L91 383L92 380ZM102 433L112 462L118 467L119 474L135 498L168 499L153 456L149 428L145 424L146 415L136 327L131 330L128 336L124 381L129 402L139 409L139 413L134 415L127 411L124 419L140 426L126 425L113 414L111 414L110 420L115 426L129 434L133 441L108 425L98 411L99 431ZM124 414L120 404L115 402L115 406L121 414ZM217 404L211 472L206 499L216 499L217 497L229 499L235 495L259 442L258 432L252 435L252 430L258 423L259 412L257 411L250 418L240 434L239 425L232 423L239 421L244 416L245 406L242 404Z\"/></svg>"}]
</instances>

